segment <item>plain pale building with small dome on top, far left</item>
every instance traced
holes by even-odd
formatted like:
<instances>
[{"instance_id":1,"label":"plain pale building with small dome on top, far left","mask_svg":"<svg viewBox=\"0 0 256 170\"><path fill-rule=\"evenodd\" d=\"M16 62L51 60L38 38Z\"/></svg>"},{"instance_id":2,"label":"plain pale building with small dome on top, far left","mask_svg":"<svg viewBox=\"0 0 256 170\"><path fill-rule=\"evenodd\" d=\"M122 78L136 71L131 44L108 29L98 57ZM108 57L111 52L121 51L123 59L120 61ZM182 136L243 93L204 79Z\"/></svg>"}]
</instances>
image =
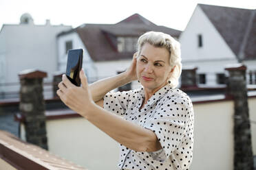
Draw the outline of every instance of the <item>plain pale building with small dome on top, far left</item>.
<instances>
[{"instance_id":1,"label":"plain pale building with small dome on top, far left","mask_svg":"<svg viewBox=\"0 0 256 170\"><path fill-rule=\"evenodd\" d=\"M23 14L17 25L4 24L0 31L0 93L16 91L18 95L18 74L25 69L45 71L45 81L52 81L58 61L56 34L71 28L51 25L49 20L45 25L34 25L30 14Z\"/></svg>"}]
</instances>

